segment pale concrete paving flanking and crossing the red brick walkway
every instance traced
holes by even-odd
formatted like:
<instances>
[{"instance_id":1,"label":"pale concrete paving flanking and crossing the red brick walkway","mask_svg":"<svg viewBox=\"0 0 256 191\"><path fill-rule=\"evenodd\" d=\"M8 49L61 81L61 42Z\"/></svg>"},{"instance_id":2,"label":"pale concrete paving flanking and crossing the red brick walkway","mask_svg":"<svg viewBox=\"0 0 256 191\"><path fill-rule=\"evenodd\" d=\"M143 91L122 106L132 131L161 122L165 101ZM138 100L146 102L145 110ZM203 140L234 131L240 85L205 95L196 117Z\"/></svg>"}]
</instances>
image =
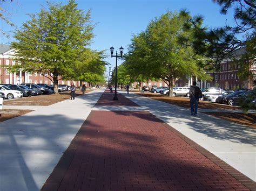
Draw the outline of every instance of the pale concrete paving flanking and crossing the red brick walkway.
<instances>
[{"instance_id":1,"label":"pale concrete paving flanking and crossing the red brick walkway","mask_svg":"<svg viewBox=\"0 0 256 191\"><path fill-rule=\"evenodd\" d=\"M95 90L85 97L40 107L0 123L0 190L41 189L92 110L95 116L104 111L149 111L255 181L255 129L201 114L200 109L198 116L191 117L188 109L132 93L120 93L139 106L95 105L103 94L103 90ZM147 117L144 113L142 116ZM109 120L104 115L97 117ZM115 115L109 117L117 123Z\"/></svg>"}]
</instances>

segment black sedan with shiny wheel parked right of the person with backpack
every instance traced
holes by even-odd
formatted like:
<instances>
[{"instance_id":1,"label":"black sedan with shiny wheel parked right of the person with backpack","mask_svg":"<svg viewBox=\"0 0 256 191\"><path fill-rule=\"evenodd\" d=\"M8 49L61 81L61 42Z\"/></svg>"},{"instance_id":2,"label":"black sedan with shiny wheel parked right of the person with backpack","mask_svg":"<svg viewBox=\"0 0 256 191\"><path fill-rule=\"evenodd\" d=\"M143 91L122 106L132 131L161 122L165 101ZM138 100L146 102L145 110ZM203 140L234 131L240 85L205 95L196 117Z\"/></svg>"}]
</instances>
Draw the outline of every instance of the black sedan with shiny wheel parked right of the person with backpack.
<instances>
[{"instance_id":1,"label":"black sedan with shiny wheel parked right of the person with backpack","mask_svg":"<svg viewBox=\"0 0 256 191\"><path fill-rule=\"evenodd\" d=\"M247 94L250 94L250 91L235 91L229 95L219 96L216 99L216 103L239 105L242 100L245 100Z\"/></svg>"}]
</instances>

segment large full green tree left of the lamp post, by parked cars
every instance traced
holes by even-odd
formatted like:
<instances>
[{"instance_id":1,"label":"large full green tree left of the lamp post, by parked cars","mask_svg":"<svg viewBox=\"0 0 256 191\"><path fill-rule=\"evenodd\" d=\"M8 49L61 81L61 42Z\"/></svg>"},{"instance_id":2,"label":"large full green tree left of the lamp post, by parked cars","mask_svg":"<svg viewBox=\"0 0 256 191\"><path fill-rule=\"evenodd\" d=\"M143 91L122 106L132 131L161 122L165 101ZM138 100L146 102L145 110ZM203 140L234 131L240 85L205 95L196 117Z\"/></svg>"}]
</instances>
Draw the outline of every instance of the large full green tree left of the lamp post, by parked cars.
<instances>
[{"instance_id":1,"label":"large full green tree left of the lamp post, by parked cars","mask_svg":"<svg viewBox=\"0 0 256 191\"><path fill-rule=\"evenodd\" d=\"M15 31L15 60L20 64L14 69L48 74L57 91L61 76L75 76L83 65L80 55L85 55L93 38L91 11L77 8L77 3L48 3L49 9L41 9Z\"/></svg>"}]
</instances>

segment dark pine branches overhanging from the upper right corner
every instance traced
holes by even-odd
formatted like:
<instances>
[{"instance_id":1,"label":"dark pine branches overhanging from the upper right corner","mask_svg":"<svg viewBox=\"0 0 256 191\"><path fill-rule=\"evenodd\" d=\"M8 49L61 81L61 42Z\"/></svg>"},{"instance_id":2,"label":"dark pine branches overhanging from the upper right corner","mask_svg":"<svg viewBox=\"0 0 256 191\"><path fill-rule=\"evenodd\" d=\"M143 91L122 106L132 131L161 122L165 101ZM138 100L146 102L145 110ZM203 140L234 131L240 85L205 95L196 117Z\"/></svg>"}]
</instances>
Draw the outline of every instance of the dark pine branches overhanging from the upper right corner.
<instances>
[{"instance_id":1,"label":"dark pine branches overhanging from the upper right corner","mask_svg":"<svg viewBox=\"0 0 256 191\"><path fill-rule=\"evenodd\" d=\"M228 57L231 58L232 55L235 55L234 52L239 48L246 47L248 45L248 41L254 40L255 45L256 4L255 0L212 1L221 6L220 13L224 15L226 15L228 10L233 8L233 18L235 20L235 24L233 26L226 24L226 26L219 27L217 29L207 29L207 27L202 27L201 25L203 23L203 17L190 17L186 10L181 11L181 15L187 17L187 22L184 25L186 29L190 31L192 29L193 31L193 39L190 41L190 45L196 49L198 54L212 58L214 62L211 62L211 65L212 63L215 63L213 68L218 68L221 60ZM247 55L251 56L251 51L254 50L246 47L246 51L249 52ZM247 60L250 59L252 59L252 57L247 58ZM251 62L251 65L252 64L253 62ZM245 71L248 69L247 65L244 66L245 67L240 67L240 73L246 73L248 77L248 75L251 74Z\"/></svg>"}]
</instances>

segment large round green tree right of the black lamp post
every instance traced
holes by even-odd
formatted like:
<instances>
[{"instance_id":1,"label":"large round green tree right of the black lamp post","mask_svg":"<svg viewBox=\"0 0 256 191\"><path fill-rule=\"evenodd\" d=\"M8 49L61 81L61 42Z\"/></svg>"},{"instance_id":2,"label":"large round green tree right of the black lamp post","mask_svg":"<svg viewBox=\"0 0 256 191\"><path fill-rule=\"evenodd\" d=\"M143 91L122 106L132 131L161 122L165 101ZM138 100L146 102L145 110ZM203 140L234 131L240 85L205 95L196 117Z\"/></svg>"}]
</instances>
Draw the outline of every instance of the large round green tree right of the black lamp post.
<instances>
[{"instance_id":1,"label":"large round green tree right of the black lamp post","mask_svg":"<svg viewBox=\"0 0 256 191\"><path fill-rule=\"evenodd\" d=\"M184 75L206 77L198 65L201 56L180 43L180 38L191 38L190 32L183 29L185 22L186 17L167 11L132 38L125 57L137 74L162 79L169 86L170 96L174 80Z\"/></svg>"}]
</instances>

